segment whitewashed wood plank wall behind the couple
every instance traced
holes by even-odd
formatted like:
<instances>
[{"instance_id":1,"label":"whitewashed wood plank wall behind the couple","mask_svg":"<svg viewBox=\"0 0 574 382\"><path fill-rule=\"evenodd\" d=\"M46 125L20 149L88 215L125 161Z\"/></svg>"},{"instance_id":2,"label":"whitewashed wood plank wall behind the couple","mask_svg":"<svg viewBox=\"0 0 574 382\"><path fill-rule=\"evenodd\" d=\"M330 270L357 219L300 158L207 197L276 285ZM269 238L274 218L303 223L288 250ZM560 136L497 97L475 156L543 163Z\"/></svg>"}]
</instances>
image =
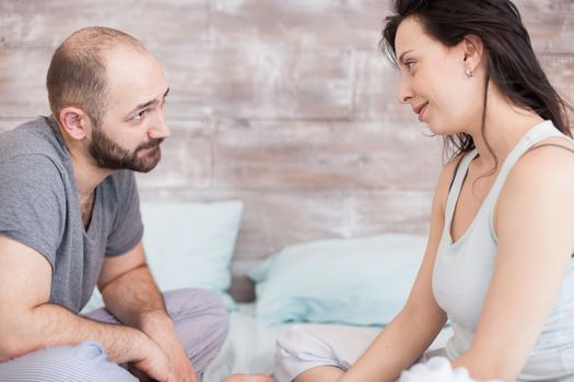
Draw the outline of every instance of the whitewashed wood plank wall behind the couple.
<instances>
[{"instance_id":1,"label":"whitewashed wood plank wall behind the couple","mask_svg":"<svg viewBox=\"0 0 574 382\"><path fill-rule=\"evenodd\" d=\"M516 4L574 99L574 1ZM283 246L427 230L441 145L396 100L386 13L386 0L1 0L0 131L48 114L48 62L73 31L142 40L171 83L173 129L142 199L244 200L232 294L248 300L246 270Z\"/></svg>"}]
</instances>

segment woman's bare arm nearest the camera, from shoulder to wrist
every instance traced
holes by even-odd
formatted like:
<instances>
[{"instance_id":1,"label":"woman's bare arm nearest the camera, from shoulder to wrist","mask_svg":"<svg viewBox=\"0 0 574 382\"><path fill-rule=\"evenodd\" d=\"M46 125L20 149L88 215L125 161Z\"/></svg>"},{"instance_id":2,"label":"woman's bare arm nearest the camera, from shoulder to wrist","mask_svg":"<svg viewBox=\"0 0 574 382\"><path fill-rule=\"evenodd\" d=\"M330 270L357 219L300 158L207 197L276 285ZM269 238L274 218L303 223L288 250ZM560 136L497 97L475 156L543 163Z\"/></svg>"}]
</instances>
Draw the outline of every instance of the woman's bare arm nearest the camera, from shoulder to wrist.
<instances>
[{"instance_id":1,"label":"woman's bare arm nearest the camera, from shoulder to wrist","mask_svg":"<svg viewBox=\"0 0 574 382\"><path fill-rule=\"evenodd\" d=\"M475 379L514 381L541 333L574 251L573 174L572 153L544 147L506 179L494 273L471 349L454 362Z\"/></svg>"}]
</instances>

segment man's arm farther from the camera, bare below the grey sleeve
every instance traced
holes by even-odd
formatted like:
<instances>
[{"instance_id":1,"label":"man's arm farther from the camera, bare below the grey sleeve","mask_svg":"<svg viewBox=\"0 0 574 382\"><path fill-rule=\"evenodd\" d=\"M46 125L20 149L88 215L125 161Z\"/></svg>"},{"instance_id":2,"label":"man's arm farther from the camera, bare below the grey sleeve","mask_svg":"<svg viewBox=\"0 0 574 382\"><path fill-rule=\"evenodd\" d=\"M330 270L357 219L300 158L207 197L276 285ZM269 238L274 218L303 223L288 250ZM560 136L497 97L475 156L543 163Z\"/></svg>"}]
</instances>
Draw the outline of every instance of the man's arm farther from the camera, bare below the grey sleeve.
<instances>
[{"instance_id":1,"label":"man's arm farther from the camera, bare below the grey sleeve","mask_svg":"<svg viewBox=\"0 0 574 382\"><path fill-rule=\"evenodd\" d=\"M125 254L107 258L97 285L107 310L124 324L145 333L165 351L177 381L196 381L163 296L145 264L141 241ZM145 371L145 366L142 369Z\"/></svg>"}]
</instances>

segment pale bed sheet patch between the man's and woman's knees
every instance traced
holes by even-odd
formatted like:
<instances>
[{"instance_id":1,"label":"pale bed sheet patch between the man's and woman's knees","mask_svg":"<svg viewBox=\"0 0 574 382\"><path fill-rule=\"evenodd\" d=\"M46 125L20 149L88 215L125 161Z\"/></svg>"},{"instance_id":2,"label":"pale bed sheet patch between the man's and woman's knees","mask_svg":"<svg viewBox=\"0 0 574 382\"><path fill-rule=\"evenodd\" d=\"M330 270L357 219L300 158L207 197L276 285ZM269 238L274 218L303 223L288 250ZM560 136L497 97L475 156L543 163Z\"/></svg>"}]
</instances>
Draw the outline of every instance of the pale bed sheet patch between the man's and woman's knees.
<instances>
[{"instance_id":1,"label":"pale bed sheet patch between the man's and woman's knees","mask_svg":"<svg viewBox=\"0 0 574 382\"><path fill-rule=\"evenodd\" d=\"M202 382L220 382L233 373L272 374L274 371L276 339L293 324L268 324L255 318L254 303L237 306L237 311L230 314L227 338L203 373ZM450 335L450 327L443 329L431 348L443 347Z\"/></svg>"}]
</instances>

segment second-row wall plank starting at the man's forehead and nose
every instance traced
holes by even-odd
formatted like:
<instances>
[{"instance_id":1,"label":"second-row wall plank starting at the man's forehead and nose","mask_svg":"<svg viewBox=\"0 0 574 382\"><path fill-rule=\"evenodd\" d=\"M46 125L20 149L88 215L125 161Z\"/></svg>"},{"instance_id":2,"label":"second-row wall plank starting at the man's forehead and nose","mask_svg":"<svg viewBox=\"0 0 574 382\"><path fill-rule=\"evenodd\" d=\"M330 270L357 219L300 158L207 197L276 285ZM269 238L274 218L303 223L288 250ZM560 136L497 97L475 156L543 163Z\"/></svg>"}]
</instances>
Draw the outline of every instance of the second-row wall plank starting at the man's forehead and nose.
<instances>
[{"instance_id":1,"label":"second-row wall plank starting at the man's forehead and nose","mask_svg":"<svg viewBox=\"0 0 574 382\"><path fill-rule=\"evenodd\" d=\"M349 119L348 50L230 48L159 50L172 83L171 116Z\"/></svg>"}]
</instances>

